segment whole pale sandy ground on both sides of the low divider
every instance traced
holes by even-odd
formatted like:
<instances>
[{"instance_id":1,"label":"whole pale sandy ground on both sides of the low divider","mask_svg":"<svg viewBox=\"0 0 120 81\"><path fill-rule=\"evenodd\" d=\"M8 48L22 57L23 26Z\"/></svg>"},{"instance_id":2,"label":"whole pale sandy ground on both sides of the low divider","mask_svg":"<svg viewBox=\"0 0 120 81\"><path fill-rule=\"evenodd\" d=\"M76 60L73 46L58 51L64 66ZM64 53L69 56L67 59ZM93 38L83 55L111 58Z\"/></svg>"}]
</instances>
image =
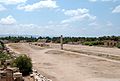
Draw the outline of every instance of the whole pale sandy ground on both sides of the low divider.
<instances>
[{"instance_id":1,"label":"whole pale sandy ground on both sides of the low divider","mask_svg":"<svg viewBox=\"0 0 120 81\"><path fill-rule=\"evenodd\" d=\"M61 51L56 44L52 44L52 48L44 49L27 43L9 44L9 47L18 53L29 55L34 68L53 81L120 81L120 63L118 62ZM120 50L117 48L81 45L65 45L65 48L120 55Z\"/></svg>"}]
</instances>

